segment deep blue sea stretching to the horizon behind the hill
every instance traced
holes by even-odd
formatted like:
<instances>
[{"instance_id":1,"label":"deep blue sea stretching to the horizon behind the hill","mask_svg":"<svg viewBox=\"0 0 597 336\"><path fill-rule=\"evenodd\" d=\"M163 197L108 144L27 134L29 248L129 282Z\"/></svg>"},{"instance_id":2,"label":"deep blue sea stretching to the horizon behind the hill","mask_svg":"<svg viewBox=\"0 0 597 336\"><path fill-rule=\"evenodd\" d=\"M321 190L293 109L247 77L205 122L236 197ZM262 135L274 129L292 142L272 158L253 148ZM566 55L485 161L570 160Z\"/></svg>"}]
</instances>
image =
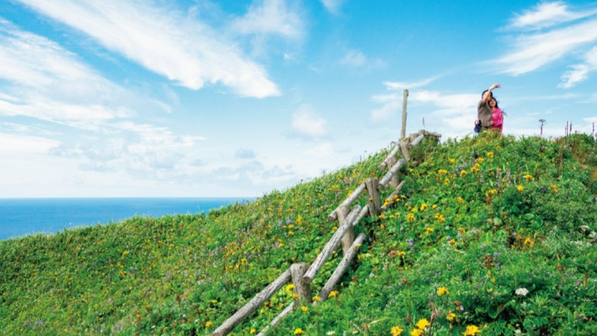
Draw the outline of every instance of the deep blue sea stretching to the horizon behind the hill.
<instances>
[{"instance_id":1,"label":"deep blue sea stretching to the horizon behind the hill","mask_svg":"<svg viewBox=\"0 0 597 336\"><path fill-rule=\"evenodd\" d=\"M251 198L0 198L0 240L119 222L135 215L208 212Z\"/></svg>"}]
</instances>

